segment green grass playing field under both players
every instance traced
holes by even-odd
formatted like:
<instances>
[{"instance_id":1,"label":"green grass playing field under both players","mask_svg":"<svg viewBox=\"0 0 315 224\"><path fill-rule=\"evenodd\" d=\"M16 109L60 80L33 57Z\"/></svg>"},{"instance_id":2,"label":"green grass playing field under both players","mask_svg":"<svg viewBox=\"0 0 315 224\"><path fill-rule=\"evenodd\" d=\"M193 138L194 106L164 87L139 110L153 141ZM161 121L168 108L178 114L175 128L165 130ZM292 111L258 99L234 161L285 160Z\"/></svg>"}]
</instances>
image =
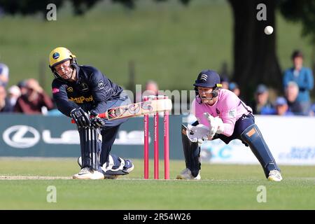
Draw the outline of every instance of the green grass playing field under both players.
<instances>
[{"instance_id":1,"label":"green grass playing field under both players","mask_svg":"<svg viewBox=\"0 0 315 224\"><path fill-rule=\"evenodd\" d=\"M134 172L123 178L79 181L70 179L78 172L74 158L0 163L0 209L315 209L315 167L281 166L284 180L274 183L259 165L203 164L202 181L182 181L174 178L184 162L171 161L171 180L162 181L143 180L143 161L134 160ZM57 189L56 203L46 201L48 186ZM257 202L258 186L267 190L265 203Z\"/></svg>"}]
</instances>

